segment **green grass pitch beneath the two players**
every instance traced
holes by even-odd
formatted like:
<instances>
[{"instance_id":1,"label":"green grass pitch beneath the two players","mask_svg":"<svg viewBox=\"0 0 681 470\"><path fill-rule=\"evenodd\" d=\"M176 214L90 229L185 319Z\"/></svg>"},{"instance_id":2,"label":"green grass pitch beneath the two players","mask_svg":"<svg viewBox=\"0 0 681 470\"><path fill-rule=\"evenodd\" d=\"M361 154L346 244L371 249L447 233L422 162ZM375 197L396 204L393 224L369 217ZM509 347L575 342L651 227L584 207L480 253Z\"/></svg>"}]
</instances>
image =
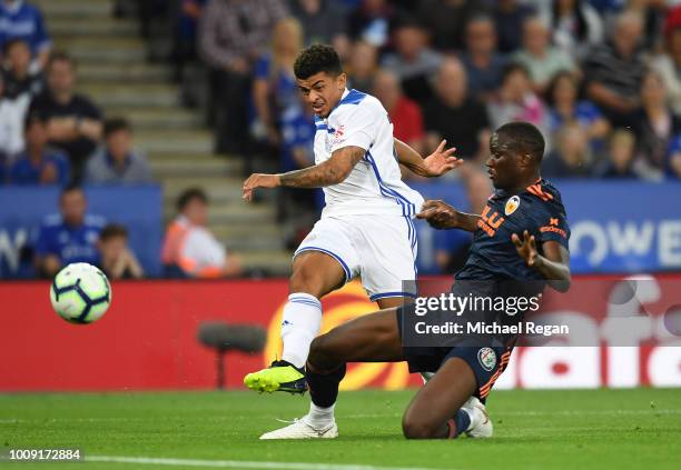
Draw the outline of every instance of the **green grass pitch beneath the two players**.
<instances>
[{"instance_id":1,"label":"green grass pitch beneath the two players","mask_svg":"<svg viewBox=\"0 0 681 470\"><path fill-rule=\"evenodd\" d=\"M81 448L85 463L34 469L288 470L681 468L681 390L493 391L490 440L407 441L414 391L340 393L336 440L258 441L307 396L250 392L0 394L0 448ZM88 457L99 461L87 461ZM106 457L160 458L102 462ZM186 460L188 459L188 460ZM243 466L241 463L243 462Z\"/></svg>"}]
</instances>

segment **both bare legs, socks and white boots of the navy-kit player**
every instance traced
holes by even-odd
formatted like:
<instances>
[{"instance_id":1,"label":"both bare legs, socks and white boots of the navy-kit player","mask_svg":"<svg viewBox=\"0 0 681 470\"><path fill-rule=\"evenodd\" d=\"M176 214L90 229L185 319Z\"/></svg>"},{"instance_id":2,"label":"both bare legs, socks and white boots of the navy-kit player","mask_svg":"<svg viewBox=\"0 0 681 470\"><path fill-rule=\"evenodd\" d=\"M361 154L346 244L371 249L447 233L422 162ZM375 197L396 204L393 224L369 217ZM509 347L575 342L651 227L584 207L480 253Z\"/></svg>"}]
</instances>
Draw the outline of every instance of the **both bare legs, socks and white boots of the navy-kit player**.
<instances>
[{"instance_id":1,"label":"both bare legs, socks and white boots of the navy-kit player","mask_svg":"<svg viewBox=\"0 0 681 470\"><path fill-rule=\"evenodd\" d=\"M396 309L382 310L342 324L315 339L307 362L309 412L293 424L260 439L335 438L334 406L347 362L405 360ZM447 360L416 394L404 418L407 438L454 438L461 432L490 437L484 406L472 399L477 382L461 359ZM423 416L418 414L422 410Z\"/></svg>"}]
</instances>

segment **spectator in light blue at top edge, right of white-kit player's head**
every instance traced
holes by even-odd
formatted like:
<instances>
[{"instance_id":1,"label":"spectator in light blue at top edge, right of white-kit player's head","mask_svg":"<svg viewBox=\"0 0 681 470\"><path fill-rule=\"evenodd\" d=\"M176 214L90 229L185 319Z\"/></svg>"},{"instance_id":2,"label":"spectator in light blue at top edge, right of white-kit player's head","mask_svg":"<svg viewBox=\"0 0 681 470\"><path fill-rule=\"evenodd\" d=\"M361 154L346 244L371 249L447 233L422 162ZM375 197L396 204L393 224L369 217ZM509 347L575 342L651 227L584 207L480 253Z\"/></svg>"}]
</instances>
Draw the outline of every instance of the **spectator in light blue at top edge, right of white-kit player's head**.
<instances>
[{"instance_id":1,"label":"spectator in light blue at top edge, right of white-kit player's head","mask_svg":"<svg viewBox=\"0 0 681 470\"><path fill-rule=\"evenodd\" d=\"M388 41L388 28L393 8L387 0L362 0L347 19L348 33L353 40L361 39L382 48Z\"/></svg>"}]
</instances>

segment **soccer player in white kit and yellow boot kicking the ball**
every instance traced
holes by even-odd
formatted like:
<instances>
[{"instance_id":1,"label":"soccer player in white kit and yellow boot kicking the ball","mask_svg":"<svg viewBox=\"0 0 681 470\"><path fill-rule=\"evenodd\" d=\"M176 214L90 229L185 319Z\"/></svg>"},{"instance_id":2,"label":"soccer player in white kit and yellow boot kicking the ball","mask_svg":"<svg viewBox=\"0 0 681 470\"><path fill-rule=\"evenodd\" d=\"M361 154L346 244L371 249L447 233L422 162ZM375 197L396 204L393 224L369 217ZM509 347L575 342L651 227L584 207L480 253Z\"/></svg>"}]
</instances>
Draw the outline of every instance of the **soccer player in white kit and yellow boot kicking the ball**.
<instances>
[{"instance_id":1,"label":"soccer player in white kit and yellow boot kicking the ball","mask_svg":"<svg viewBox=\"0 0 681 470\"><path fill-rule=\"evenodd\" d=\"M324 188L320 220L296 250L284 307L282 359L249 373L244 383L256 391L302 393L307 389L304 367L313 339L319 333L325 294L355 277L381 309L416 297L416 231L412 218L421 210L421 194L401 180L399 164L437 177L461 160L454 149L438 149L423 159L394 139L393 124L381 102L347 90L336 51L315 44L300 52L296 82L315 112L315 166L282 174L251 174L244 199L256 188Z\"/></svg>"}]
</instances>

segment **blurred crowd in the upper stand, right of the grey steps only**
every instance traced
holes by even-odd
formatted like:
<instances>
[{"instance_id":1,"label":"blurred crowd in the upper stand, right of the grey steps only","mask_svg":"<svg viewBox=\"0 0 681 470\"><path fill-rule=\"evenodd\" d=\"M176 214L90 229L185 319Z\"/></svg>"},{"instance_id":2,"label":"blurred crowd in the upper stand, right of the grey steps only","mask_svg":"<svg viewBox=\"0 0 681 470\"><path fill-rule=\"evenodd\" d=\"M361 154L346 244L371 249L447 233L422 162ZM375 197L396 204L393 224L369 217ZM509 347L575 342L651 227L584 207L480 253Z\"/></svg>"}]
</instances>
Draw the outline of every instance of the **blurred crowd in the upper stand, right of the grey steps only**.
<instances>
[{"instance_id":1,"label":"blurred crowd in the upper stand, right of the grey steps only","mask_svg":"<svg viewBox=\"0 0 681 470\"><path fill-rule=\"evenodd\" d=\"M292 69L302 47L328 42L351 87L378 97L422 153L445 138L482 163L491 129L522 119L551 142L546 177L660 180L681 176L673 3L185 0L176 24L194 24L178 33L195 44L186 57L210 70L220 152L266 146L283 169L309 164Z\"/></svg>"}]
</instances>

